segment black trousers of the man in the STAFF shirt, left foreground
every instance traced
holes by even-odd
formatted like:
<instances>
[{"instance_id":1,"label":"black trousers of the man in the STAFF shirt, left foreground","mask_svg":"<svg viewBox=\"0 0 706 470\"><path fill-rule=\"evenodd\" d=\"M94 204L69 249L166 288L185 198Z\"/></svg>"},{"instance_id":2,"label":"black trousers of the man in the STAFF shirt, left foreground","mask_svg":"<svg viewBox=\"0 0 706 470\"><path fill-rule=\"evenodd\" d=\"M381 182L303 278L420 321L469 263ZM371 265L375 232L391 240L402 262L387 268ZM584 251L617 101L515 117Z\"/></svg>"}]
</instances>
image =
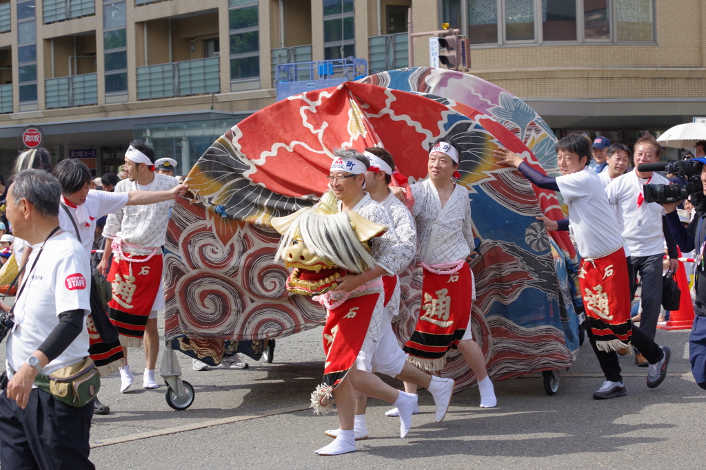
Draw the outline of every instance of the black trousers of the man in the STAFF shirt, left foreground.
<instances>
[{"instance_id":1,"label":"black trousers of the man in the STAFF shirt, left foreground","mask_svg":"<svg viewBox=\"0 0 706 470\"><path fill-rule=\"evenodd\" d=\"M93 402L71 407L37 388L25 409L0 394L2 470L95 470L88 460Z\"/></svg>"}]
</instances>

